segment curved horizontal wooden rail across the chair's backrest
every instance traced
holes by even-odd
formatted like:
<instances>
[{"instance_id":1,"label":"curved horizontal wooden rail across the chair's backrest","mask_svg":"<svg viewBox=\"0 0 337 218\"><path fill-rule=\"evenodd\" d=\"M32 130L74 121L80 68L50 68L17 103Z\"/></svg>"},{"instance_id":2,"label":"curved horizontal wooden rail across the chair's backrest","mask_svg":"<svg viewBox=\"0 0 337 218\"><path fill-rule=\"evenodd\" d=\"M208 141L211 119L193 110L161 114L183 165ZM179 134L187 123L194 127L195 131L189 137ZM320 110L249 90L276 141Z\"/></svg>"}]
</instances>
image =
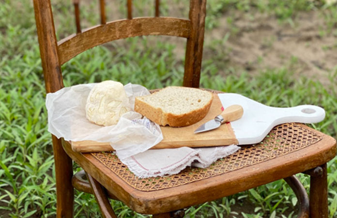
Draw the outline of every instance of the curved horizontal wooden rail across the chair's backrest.
<instances>
[{"instance_id":1,"label":"curved horizontal wooden rail across the chair's backrest","mask_svg":"<svg viewBox=\"0 0 337 218\"><path fill-rule=\"evenodd\" d=\"M82 31L81 34L73 34L59 41L60 64L89 48L117 39L141 35L170 35L188 38L190 21L173 17L140 17L92 27Z\"/></svg>"}]
</instances>

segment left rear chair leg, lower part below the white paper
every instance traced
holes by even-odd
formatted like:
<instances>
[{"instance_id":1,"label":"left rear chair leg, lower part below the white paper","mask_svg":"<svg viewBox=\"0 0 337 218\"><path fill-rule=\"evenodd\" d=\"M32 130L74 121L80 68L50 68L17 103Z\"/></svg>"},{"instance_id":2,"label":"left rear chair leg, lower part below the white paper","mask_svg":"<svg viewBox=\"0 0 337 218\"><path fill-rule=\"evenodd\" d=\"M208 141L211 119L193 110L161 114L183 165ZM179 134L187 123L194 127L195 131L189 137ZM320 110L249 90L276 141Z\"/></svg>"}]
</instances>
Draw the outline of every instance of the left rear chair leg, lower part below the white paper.
<instances>
[{"instance_id":1,"label":"left rear chair leg, lower part below the white paper","mask_svg":"<svg viewBox=\"0 0 337 218\"><path fill-rule=\"evenodd\" d=\"M56 174L56 217L72 218L74 213L73 161L64 152L61 139L52 136Z\"/></svg>"}]
</instances>

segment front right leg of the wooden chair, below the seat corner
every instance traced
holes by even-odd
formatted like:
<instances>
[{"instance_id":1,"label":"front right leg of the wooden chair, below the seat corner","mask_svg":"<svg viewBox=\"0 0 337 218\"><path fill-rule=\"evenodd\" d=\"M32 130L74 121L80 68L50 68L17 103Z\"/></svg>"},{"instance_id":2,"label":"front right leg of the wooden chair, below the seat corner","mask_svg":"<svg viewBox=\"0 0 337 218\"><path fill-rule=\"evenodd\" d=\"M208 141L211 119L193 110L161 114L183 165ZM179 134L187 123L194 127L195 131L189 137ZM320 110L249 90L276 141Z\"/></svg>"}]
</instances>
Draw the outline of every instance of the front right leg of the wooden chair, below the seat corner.
<instances>
[{"instance_id":1,"label":"front right leg of the wooden chair, below the seat corner","mask_svg":"<svg viewBox=\"0 0 337 218\"><path fill-rule=\"evenodd\" d=\"M310 175L310 217L328 218L328 181L326 164L317 168L322 168L322 173L319 173L319 175Z\"/></svg>"}]
</instances>

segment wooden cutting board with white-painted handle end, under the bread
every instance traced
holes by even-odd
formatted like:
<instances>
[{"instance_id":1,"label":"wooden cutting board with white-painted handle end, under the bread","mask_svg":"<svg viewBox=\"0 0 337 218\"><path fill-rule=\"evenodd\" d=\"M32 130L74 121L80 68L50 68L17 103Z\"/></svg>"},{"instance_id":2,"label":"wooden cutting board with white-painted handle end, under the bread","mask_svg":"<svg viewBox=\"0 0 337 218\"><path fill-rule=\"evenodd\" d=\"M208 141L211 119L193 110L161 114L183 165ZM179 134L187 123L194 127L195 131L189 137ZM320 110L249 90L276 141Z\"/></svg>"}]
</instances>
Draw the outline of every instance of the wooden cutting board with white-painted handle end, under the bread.
<instances>
[{"instance_id":1,"label":"wooden cutting board with white-painted handle end, under the bread","mask_svg":"<svg viewBox=\"0 0 337 218\"><path fill-rule=\"evenodd\" d=\"M241 105L244 109L242 118L219 128L194 134L200 125L221 113L221 108L230 105ZM152 149L188 147L209 147L230 144L258 143L276 125L298 122L318 123L325 117L324 109L313 105L300 105L292 108L275 108L263 105L241 94L214 94L210 111L204 119L186 127L161 127L164 139ZM111 151L109 143L95 141L72 142L72 148L77 152Z\"/></svg>"}]
</instances>

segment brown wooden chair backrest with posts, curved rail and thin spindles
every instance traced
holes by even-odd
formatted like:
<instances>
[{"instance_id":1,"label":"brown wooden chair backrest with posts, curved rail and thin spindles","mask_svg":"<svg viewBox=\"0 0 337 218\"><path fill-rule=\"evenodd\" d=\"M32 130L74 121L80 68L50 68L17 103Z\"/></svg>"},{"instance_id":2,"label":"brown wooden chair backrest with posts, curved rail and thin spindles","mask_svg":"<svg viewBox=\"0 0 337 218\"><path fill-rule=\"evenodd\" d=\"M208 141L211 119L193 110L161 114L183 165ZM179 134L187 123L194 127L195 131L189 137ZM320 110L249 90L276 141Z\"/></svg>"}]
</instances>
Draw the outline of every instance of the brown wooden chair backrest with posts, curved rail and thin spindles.
<instances>
[{"instance_id":1,"label":"brown wooden chair backrest with posts, curved rail and thin spindles","mask_svg":"<svg viewBox=\"0 0 337 218\"><path fill-rule=\"evenodd\" d=\"M77 33L57 42L50 0L33 0L47 93L63 88L63 63L103 43L141 35L187 38L183 85L199 87L206 0L190 0L189 19L159 16L159 0L154 17L133 18L132 0L126 1L127 19L106 22L105 0L99 0L101 24L81 30L79 0L73 0Z\"/></svg>"}]
</instances>

